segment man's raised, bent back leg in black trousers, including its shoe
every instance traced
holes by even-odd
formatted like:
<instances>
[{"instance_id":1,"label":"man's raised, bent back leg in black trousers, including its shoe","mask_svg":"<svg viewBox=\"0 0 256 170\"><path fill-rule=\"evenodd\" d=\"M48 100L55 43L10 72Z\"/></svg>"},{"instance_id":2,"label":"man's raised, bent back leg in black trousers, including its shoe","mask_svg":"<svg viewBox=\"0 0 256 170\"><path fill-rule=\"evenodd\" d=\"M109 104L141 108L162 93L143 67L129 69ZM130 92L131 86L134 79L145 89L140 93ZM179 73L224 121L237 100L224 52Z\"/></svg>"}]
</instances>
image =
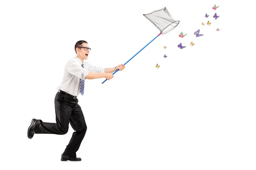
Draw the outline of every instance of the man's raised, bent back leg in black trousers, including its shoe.
<instances>
[{"instance_id":1,"label":"man's raised, bent back leg in black trousers, including its shoe","mask_svg":"<svg viewBox=\"0 0 256 170\"><path fill-rule=\"evenodd\" d=\"M64 94L57 93L55 96L56 123L43 122L38 119L32 120L28 129L28 137L32 139L34 133L48 133L64 135L68 131L71 109L65 104Z\"/></svg>"}]
</instances>

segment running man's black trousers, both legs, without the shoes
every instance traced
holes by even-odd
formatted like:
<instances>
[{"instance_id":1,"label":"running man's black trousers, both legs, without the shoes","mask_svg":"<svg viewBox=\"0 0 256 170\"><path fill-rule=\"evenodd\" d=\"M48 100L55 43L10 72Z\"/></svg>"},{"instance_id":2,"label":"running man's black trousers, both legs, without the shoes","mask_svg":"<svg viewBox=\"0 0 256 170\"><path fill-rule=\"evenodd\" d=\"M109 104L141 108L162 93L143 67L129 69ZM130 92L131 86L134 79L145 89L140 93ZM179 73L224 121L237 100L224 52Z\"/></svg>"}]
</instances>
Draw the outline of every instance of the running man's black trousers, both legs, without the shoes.
<instances>
[{"instance_id":1,"label":"running man's black trousers, both legs, without the shoes","mask_svg":"<svg viewBox=\"0 0 256 170\"><path fill-rule=\"evenodd\" d=\"M35 125L35 133L64 135L67 133L70 123L75 132L63 154L76 157L76 151L79 150L87 130L83 112L78 105L78 99L58 92L54 102L56 123L43 122L39 119Z\"/></svg>"}]
</instances>

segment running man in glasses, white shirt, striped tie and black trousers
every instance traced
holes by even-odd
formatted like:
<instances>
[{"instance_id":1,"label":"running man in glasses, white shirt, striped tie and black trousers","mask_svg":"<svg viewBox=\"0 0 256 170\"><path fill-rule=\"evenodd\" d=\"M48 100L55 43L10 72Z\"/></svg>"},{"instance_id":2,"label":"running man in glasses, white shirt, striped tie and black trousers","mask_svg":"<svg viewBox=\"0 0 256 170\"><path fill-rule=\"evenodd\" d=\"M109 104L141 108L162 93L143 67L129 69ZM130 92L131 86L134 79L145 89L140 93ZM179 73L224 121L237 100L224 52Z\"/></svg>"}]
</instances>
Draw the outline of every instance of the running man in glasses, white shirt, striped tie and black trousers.
<instances>
[{"instance_id":1,"label":"running man in glasses, white shirt, striped tie and black trousers","mask_svg":"<svg viewBox=\"0 0 256 170\"><path fill-rule=\"evenodd\" d=\"M35 133L64 135L67 133L70 123L75 132L61 155L61 161L81 161L81 158L76 157L76 152L84 139L87 126L77 96L80 93L81 95L84 94L84 80L104 77L110 80L113 78L112 73L114 71L117 69L122 71L125 68L123 64L113 68L102 68L84 62L84 59L88 58L90 49L86 41L76 42L76 57L67 62L62 83L57 87L58 92L55 96L56 123L32 119L28 128L28 138L32 139Z\"/></svg>"}]
</instances>

